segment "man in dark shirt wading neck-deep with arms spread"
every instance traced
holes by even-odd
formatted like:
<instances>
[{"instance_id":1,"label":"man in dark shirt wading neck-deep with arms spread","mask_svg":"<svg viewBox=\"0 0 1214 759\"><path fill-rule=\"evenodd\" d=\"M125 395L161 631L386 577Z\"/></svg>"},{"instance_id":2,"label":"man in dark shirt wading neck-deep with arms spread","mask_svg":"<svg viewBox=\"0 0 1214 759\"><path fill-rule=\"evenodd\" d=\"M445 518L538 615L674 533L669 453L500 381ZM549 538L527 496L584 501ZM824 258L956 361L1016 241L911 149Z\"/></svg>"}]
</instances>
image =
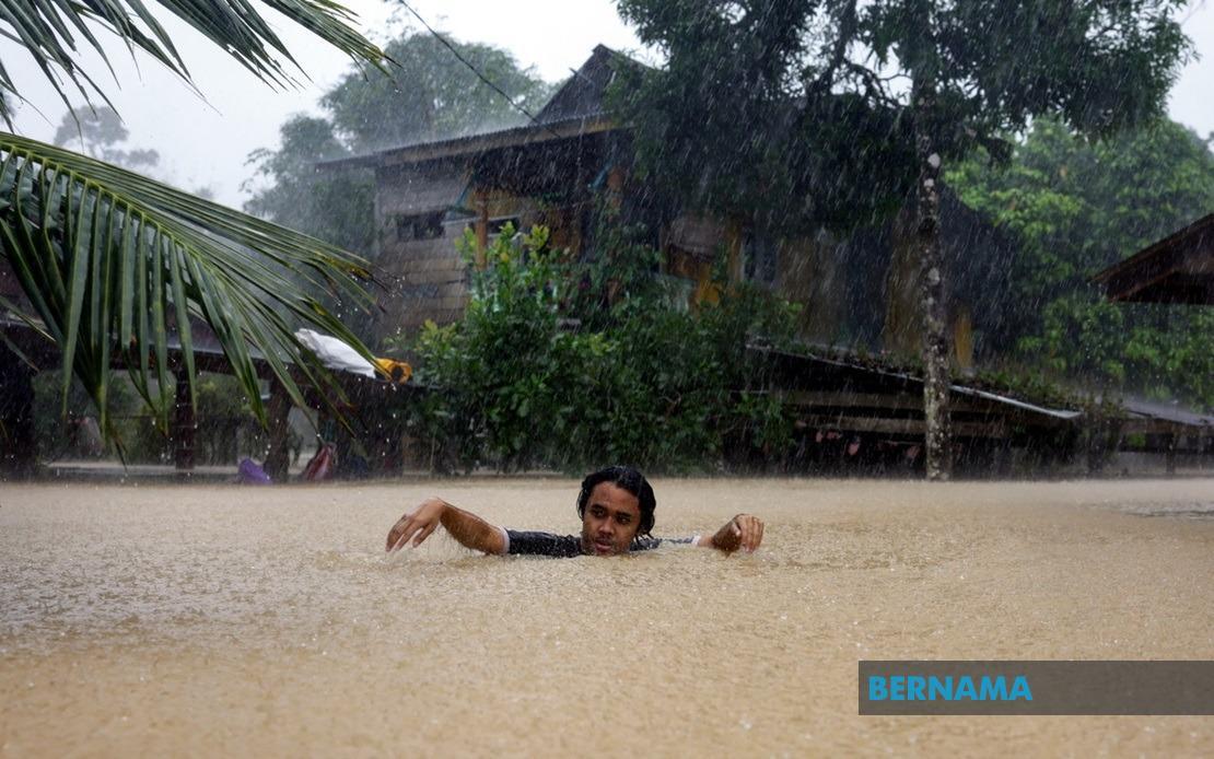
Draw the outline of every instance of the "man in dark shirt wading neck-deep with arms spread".
<instances>
[{"instance_id":1,"label":"man in dark shirt wading neck-deep with arms spread","mask_svg":"<svg viewBox=\"0 0 1214 759\"><path fill-rule=\"evenodd\" d=\"M463 545L486 554L538 556L612 556L657 548L662 543L703 545L725 553L753 551L762 542L762 520L739 514L709 537L654 538L657 500L645 476L630 466L608 466L586 475L578 493L582 536L516 532L495 527L441 498L431 498L405 514L387 533L387 550L418 545L442 525Z\"/></svg>"}]
</instances>

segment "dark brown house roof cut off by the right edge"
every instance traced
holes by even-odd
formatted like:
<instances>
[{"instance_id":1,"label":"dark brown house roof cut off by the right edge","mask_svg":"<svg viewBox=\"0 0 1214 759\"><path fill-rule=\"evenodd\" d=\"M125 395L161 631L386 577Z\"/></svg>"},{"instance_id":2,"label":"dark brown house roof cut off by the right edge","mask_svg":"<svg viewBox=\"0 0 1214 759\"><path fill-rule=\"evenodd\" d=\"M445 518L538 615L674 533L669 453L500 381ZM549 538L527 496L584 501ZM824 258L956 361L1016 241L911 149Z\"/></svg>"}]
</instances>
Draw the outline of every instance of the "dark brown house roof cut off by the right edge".
<instances>
[{"instance_id":1,"label":"dark brown house roof cut off by the right edge","mask_svg":"<svg viewBox=\"0 0 1214 759\"><path fill-rule=\"evenodd\" d=\"M1214 305L1214 214L1093 278L1110 300Z\"/></svg>"}]
</instances>

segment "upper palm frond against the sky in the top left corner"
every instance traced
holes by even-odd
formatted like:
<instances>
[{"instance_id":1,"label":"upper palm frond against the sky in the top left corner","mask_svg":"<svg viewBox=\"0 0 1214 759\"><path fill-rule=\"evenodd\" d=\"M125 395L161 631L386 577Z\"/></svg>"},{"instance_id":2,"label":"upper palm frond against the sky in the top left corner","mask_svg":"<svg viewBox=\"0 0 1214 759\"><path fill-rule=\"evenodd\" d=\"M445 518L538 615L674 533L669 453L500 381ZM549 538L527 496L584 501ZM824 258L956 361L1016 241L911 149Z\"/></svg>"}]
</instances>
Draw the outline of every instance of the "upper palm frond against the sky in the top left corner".
<instances>
[{"instance_id":1,"label":"upper palm frond against the sky in the top left corner","mask_svg":"<svg viewBox=\"0 0 1214 759\"><path fill-rule=\"evenodd\" d=\"M278 35L248 0L157 0L200 34L234 57L256 77L274 86L294 83L289 63L295 58ZM356 16L331 0L263 0L290 21L357 62L381 67L384 52L358 34L350 23ZM121 39L134 55L142 50L189 81L186 62L172 40L141 0L5 0L0 2L0 33L25 47L34 64L68 104L67 90L74 89L86 101L104 92L75 62L79 47L92 47L109 66L107 51L92 28L100 27ZM0 64L0 94L21 92L7 69ZM8 104L0 97L0 118L12 124Z\"/></svg>"}]
</instances>

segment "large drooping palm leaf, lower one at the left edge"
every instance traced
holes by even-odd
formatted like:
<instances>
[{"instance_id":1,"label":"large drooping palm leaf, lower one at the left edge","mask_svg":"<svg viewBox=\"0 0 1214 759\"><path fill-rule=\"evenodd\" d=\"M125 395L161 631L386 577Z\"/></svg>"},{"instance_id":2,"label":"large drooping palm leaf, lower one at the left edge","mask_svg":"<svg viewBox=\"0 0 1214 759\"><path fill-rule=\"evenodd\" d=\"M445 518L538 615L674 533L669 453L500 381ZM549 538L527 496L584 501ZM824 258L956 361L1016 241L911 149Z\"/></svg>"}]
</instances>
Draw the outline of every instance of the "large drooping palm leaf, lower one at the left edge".
<instances>
[{"instance_id":1,"label":"large drooping palm leaf, lower one at the left edge","mask_svg":"<svg viewBox=\"0 0 1214 759\"><path fill-rule=\"evenodd\" d=\"M295 339L297 327L335 335L371 359L319 300L327 293L368 306L358 284L368 276L362 259L125 169L4 132L0 250L62 351L64 381L81 380L102 429L109 429L114 363L130 369L141 395L166 419L174 335L193 383L192 318L210 327L262 423L259 356L296 404L304 397L294 374L320 389L330 407L344 400Z\"/></svg>"}]
</instances>

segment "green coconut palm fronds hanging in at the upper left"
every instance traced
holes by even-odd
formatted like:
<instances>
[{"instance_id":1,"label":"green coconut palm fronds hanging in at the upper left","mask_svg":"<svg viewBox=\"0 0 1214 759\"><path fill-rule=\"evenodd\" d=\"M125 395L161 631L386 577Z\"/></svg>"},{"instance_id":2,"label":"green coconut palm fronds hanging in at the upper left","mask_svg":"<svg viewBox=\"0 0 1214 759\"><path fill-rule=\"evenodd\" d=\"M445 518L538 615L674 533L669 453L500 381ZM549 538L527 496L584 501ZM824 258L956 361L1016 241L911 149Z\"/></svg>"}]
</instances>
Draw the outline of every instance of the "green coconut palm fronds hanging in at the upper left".
<instances>
[{"instance_id":1,"label":"green coconut palm fronds hanging in at the upper left","mask_svg":"<svg viewBox=\"0 0 1214 759\"><path fill-rule=\"evenodd\" d=\"M245 0L157 0L272 86L293 84L289 51ZM382 52L330 0L265 0L354 61L382 66ZM96 32L118 35L135 55L151 55L189 83L172 41L140 0L6 0L0 34L24 46L68 102L66 90L109 102L75 62L80 46L102 58ZM108 60L107 60L108 63ZM0 62L0 118L21 92ZM365 262L344 250L191 196L125 169L55 146L0 132L0 249L24 304L0 300L36 325L63 356L64 397L74 374L106 424L108 378L115 362L165 414L172 393L168 353L180 342L194 374L191 321L209 325L265 421L255 356L261 356L296 403L307 383L333 396L333 379L294 336L300 325L336 335L369 357L365 346L325 308L318 293L367 304L357 278ZM32 313L30 313L32 311ZM158 379L158 392L149 390Z\"/></svg>"}]
</instances>

